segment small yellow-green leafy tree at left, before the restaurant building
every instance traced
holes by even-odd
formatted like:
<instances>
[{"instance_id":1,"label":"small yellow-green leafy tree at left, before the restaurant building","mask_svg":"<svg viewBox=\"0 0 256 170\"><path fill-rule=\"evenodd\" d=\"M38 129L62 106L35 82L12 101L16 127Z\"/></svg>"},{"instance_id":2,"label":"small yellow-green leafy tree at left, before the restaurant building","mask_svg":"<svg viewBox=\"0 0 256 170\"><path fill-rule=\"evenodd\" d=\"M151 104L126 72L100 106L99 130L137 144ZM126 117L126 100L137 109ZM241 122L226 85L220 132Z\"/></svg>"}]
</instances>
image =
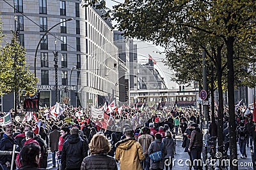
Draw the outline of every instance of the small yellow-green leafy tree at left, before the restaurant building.
<instances>
[{"instance_id":1,"label":"small yellow-green leafy tree at left, before the restaurant building","mask_svg":"<svg viewBox=\"0 0 256 170\"><path fill-rule=\"evenodd\" d=\"M22 90L29 94L36 92L38 78L26 66L25 49L20 45L17 32L12 33L11 42L0 49L0 94L15 92L18 96ZM15 113L17 113L15 96Z\"/></svg>"}]
</instances>

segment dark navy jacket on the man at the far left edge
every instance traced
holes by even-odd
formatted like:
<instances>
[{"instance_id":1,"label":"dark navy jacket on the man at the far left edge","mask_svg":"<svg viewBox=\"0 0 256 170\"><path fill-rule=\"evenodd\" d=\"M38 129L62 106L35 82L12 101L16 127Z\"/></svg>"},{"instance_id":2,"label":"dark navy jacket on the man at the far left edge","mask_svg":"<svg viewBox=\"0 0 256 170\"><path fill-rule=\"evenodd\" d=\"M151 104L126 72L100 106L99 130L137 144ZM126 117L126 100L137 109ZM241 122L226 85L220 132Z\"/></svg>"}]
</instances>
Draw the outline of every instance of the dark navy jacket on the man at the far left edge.
<instances>
[{"instance_id":1,"label":"dark navy jacket on the man at the far left edge","mask_svg":"<svg viewBox=\"0 0 256 170\"><path fill-rule=\"evenodd\" d=\"M13 145L16 144L16 141L13 138L10 138L6 134L3 135L3 138L0 140L0 150L3 151L12 151ZM18 148L18 145L17 147ZM19 151L18 149L16 151ZM12 163L12 155L2 155L0 156L0 164L5 164L6 162Z\"/></svg>"}]
</instances>

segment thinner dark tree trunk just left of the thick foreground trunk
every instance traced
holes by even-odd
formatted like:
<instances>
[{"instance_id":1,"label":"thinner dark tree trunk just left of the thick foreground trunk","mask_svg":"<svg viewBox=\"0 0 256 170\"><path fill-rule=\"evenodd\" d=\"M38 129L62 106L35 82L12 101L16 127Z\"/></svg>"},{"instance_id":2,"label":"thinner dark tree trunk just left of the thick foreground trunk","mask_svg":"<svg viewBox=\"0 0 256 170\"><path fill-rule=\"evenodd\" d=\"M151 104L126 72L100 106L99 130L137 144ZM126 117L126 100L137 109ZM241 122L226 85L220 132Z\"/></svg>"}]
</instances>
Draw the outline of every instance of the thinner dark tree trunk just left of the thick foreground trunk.
<instances>
[{"instance_id":1,"label":"thinner dark tree trunk just left of the thick foreground trunk","mask_svg":"<svg viewBox=\"0 0 256 170\"><path fill-rule=\"evenodd\" d=\"M221 64L221 48L217 49L217 80L218 80L218 94L219 94L219 107L218 107L218 146L223 146L223 90L222 90L222 64ZM223 153L223 147L218 147L218 152Z\"/></svg>"}]
</instances>

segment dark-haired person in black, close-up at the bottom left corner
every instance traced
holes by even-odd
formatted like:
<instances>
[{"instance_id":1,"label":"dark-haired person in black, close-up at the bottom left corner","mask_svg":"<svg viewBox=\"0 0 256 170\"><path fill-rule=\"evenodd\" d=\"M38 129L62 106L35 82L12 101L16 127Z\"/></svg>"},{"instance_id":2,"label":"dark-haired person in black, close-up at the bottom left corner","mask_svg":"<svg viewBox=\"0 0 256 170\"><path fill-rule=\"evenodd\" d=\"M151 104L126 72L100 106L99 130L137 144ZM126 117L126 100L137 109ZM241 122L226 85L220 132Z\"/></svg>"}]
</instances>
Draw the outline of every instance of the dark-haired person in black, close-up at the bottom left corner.
<instances>
[{"instance_id":1,"label":"dark-haired person in black, close-up at the bottom left corner","mask_svg":"<svg viewBox=\"0 0 256 170\"><path fill-rule=\"evenodd\" d=\"M41 153L40 146L35 143L29 143L24 146L20 151L20 157L22 157L22 170L41 170L45 168L38 168Z\"/></svg>"}]
</instances>

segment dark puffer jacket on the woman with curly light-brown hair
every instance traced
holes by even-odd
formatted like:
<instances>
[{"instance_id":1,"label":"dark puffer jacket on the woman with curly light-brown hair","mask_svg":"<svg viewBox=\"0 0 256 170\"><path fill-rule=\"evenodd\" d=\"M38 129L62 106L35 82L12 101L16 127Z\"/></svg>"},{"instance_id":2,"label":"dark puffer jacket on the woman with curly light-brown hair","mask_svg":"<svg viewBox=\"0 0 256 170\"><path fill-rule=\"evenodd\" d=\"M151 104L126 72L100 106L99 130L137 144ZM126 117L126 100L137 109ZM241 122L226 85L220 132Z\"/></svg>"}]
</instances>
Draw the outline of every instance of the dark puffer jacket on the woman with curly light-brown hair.
<instances>
[{"instance_id":1,"label":"dark puffer jacket on the woman with curly light-brown hair","mask_svg":"<svg viewBox=\"0 0 256 170\"><path fill-rule=\"evenodd\" d=\"M100 153L84 158L81 170L86 169L117 170L117 166L113 157L108 156L107 153Z\"/></svg>"}]
</instances>

